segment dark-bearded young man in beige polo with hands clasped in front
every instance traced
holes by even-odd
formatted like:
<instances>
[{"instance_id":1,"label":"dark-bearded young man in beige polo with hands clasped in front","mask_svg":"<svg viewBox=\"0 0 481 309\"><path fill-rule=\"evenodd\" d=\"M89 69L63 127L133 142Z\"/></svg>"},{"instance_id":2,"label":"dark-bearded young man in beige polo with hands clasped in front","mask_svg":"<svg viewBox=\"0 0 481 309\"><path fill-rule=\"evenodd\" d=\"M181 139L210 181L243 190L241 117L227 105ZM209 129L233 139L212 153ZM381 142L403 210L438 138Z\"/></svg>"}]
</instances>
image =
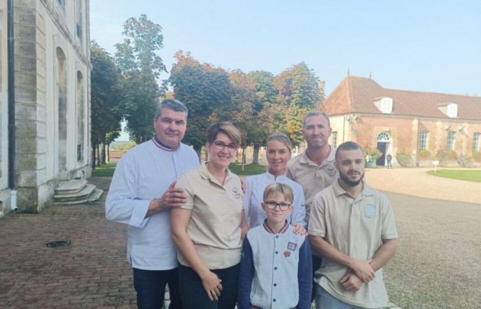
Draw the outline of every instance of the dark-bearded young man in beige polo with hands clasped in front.
<instances>
[{"instance_id":1,"label":"dark-bearded young man in beige polo with hands clasped in front","mask_svg":"<svg viewBox=\"0 0 481 309\"><path fill-rule=\"evenodd\" d=\"M311 247L324 260L315 273L317 309L382 308L388 303L382 267L396 253L398 234L388 198L369 187L361 146L335 153L339 179L314 198Z\"/></svg>"}]
</instances>

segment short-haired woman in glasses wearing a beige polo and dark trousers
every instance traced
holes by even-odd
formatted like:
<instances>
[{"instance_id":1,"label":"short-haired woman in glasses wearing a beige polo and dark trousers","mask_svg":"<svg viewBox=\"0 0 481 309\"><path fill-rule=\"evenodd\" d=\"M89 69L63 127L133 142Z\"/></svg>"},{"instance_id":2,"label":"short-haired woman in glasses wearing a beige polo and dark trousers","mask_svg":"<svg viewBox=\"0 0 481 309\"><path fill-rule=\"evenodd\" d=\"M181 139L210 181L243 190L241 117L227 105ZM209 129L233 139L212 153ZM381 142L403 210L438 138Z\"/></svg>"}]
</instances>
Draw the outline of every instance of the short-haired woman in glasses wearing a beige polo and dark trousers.
<instances>
[{"instance_id":1,"label":"short-haired woman in glasses wearing a beige polo and dark trousers","mask_svg":"<svg viewBox=\"0 0 481 309\"><path fill-rule=\"evenodd\" d=\"M209 126L209 161L182 174L187 203L171 209L172 238L177 244L179 290L185 309L230 309L236 306L242 248L243 191L229 170L240 146L230 122Z\"/></svg>"}]
</instances>

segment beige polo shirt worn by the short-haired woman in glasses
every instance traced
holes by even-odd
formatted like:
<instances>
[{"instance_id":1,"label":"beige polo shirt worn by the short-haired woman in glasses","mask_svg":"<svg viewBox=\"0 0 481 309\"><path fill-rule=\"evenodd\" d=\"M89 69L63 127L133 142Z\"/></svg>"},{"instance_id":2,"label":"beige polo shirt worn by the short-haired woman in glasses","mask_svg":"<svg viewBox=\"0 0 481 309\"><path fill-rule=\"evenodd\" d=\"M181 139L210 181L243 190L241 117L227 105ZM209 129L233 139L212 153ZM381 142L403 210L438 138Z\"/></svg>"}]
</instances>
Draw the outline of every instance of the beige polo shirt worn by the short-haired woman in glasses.
<instances>
[{"instance_id":1,"label":"beige polo shirt worn by the short-haired woman in glasses","mask_svg":"<svg viewBox=\"0 0 481 309\"><path fill-rule=\"evenodd\" d=\"M227 170L222 185L205 164L181 174L176 187L183 187L188 196L183 209L192 209L187 233L199 256L209 269L221 269L240 262L240 216L243 191L240 178ZM180 251L177 258L190 266Z\"/></svg>"}]
</instances>

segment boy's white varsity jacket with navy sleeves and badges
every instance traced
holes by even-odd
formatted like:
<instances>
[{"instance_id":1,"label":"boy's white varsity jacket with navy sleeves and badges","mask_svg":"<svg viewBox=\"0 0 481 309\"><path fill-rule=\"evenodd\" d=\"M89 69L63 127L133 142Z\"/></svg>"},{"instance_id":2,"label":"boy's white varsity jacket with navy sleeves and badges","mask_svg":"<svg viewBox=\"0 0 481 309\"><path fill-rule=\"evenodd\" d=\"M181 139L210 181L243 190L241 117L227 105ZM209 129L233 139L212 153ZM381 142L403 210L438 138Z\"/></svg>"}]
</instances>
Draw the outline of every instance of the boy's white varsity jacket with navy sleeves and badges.
<instances>
[{"instance_id":1,"label":"boy's white varsity jacket with navy sleeves and badges","mask_svg":"<svg viewBox=\"0 0 481 309\"><path fill-rule=\"evenodd\" d=\"M312 262L306 236L286 224L278 233L254 227L244 240L238 285L238 309L311 308Z\"/></svg>"}]
</instances>

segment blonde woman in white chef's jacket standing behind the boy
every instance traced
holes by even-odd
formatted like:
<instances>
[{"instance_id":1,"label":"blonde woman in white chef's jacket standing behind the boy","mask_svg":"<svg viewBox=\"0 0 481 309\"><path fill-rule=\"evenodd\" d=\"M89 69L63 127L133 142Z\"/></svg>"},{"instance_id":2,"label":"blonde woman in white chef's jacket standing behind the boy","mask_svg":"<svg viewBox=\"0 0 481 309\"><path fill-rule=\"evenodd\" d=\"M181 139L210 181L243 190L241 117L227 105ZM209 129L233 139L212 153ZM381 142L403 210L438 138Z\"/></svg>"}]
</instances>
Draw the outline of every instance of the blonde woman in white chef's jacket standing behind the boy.
<instances>
[{"instance_id":1,"label":"blonde woman in white chef's jacket standing behind the boy","mask_svg":"<svg viewBox=\"0 0 481 309\"><path fill-rule=\"evenodd\" d=\"M291 159L291 141L287 135L275 133L267 138L266 148L267 172L245 179L244 206L247 225L251 229L264 223L266 213L260 205L264 189L277 182L289 185L294 192L293 210L287 216L287 221L295 226L295 233L306 233L304 191L299 183L284 176L287 162Z\"/></svg>"}]
</instances>

